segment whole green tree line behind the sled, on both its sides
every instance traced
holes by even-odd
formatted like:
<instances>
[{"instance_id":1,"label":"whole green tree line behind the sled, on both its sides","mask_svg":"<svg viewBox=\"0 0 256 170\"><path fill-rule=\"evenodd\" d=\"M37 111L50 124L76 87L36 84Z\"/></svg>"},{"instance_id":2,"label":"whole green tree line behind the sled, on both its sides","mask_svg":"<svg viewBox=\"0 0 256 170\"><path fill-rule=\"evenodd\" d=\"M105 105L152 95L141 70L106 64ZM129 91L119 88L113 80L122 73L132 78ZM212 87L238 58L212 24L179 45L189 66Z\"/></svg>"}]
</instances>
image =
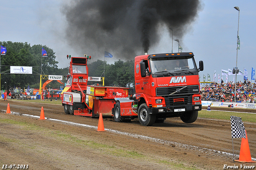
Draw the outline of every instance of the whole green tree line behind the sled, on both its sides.
<instances>
[{"instance_id":1,"label":"whole green tree line behind the sled, on both its sides","mask_svg":"<svg viewBox=\"0 0 256 170\"><path fill-rule=\"evenodd\" d=\"M68 74L68 67L58 68L55 52L53 49L42 46L41 44L31 46L27 42L0 42L0 45L6 47L6 55L1 56L1 90L11 90L13 88L39 88L42 62L42 75L62 75ZM42 58L42 48L48 54L48 57ZM10 74L10 66L31 66L32 74ZM88 62L88 76L103 76L104 61L97 60ZM42 83L46 80L42 80ZM64 79L62 82L66 82ZM88 82L88 85L102 82ZM134 88L134 61L115 61L114 64L107 64L105 61L105 86L122 86ZM52 81L46 88L57 88L60 84Z\"/></svg>"}]
</instances>

